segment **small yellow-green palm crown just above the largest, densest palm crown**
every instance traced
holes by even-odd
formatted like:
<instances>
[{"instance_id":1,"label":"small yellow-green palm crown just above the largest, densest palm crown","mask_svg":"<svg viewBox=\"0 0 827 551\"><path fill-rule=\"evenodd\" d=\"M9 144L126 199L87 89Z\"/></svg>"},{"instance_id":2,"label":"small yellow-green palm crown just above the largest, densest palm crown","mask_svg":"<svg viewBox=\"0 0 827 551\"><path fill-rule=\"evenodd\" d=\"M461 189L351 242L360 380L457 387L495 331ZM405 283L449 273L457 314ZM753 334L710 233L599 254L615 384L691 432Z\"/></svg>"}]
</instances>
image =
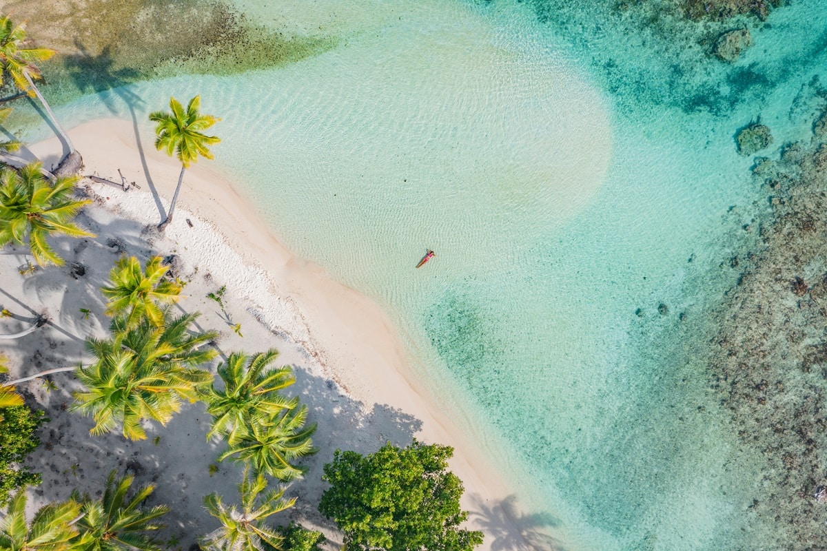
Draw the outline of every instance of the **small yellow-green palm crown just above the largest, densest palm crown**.
<instances>
[{"instance_id":1,"label":"small yellow-green palm crown just above the largest, densest palm crown","mask_svg":"<svg viewBox=\"0 0 827 551\"><path fill-rule=\"evenodd\" d=\"M160 304L178 301L181 285L164 278L170 268L161 263L160 256L155 256L141 270L141 263L134 256L119 259L109 275L112 285L101 288L103 296L109 299L107 315L124 316L130 327L143 316L156 327L163 325Z\"/></svg>"}]
</instances>

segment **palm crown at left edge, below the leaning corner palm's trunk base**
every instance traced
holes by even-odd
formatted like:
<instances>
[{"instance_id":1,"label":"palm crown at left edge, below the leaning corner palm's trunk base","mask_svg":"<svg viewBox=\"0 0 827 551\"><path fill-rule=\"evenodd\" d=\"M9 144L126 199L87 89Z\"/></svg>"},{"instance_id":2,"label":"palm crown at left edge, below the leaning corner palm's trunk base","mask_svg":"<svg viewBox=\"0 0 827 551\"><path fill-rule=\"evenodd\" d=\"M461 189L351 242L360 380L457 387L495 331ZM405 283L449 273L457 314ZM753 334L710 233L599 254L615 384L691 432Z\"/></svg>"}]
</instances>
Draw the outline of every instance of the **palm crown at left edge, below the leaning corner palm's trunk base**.
<instances>
[{"instance_id":1,"label":"palm crown at left edge, below the leaning corner palm's trunk base","mask_svg":"<svg viewBox=\"0 0 827 551\"><path fill-rule=\"evenodd\" d=\"M60 265L64 261L46 236L93 237L72 223L89 201L72 198L76 177L57 178L51 184L40 169L40 163L26 164L19 171L0 169L0 247L13 241L28 246L37 264Z\"/></svg>"}]
</instances>

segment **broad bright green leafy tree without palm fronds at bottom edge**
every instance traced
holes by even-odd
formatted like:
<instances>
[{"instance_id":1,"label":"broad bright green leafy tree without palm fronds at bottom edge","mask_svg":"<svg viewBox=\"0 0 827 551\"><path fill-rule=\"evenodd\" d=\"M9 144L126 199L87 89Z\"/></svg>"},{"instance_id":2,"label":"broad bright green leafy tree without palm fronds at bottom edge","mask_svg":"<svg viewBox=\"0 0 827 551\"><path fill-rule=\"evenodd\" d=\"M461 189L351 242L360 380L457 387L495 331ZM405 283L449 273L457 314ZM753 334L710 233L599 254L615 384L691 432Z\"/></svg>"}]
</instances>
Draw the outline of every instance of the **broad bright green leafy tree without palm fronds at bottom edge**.
<instances>
[{"instance_id":1,"label":"broad bright green leafy tree without palm fronds at bottom edge","mask_svg":"<svg viewBox=\"0 0 827 551\"><path fill-rule=\"evenodd\" d=\"M447 471L453 449L390 442L375 454L337 450L324 466L318 510L345 533L347 551L471 551L482 533L460 528L462 482Z\"/></svg>"}]
</instances>

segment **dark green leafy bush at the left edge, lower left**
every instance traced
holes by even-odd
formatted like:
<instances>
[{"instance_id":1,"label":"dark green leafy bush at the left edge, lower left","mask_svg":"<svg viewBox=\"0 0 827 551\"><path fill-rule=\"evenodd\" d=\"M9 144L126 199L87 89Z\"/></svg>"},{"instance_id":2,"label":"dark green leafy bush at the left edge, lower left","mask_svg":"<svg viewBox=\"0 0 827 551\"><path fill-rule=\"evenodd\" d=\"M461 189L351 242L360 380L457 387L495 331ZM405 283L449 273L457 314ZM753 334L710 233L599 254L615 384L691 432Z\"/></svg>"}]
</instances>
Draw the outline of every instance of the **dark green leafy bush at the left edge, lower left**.
<instances>
[{"instance_id":1,"label":"dark green leafy bush at the left edge, lower left","mask_svg":"<svg viewBox=\"0 0 827 551\"><path fill-rule=\"evenodd\" d=\"M41 444L35 431L47 419L43 411L29 406L0 408L0 505L8 495L27 484L40 484L41 475L20 463Z\"/></svg>"}]
</instances>

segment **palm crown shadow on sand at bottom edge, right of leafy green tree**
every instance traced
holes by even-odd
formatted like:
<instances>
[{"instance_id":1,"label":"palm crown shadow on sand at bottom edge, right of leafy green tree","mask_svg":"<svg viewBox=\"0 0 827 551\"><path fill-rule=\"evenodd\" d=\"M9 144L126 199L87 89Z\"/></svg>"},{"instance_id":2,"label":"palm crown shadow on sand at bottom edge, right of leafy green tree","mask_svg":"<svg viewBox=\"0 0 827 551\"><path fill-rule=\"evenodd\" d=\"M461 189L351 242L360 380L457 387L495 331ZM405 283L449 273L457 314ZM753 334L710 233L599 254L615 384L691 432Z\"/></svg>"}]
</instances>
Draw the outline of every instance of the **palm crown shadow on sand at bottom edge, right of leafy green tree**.
<instances>
[{"instance_id":1,"label":"palm crown shadow on sand at bottom edge, right of leafy green tree","mask_svg":"<svg viewBox=\"0 0 827 551\"><path fill-rule=\"evenodd\" d=\"M477 530L493 534L491 551L566 551L549 531L562 525L549 513L526 514L514 506L516 496L508 496L493 506L474 496L475 511L470 520Z\"/></svg>"}]
</instances>

